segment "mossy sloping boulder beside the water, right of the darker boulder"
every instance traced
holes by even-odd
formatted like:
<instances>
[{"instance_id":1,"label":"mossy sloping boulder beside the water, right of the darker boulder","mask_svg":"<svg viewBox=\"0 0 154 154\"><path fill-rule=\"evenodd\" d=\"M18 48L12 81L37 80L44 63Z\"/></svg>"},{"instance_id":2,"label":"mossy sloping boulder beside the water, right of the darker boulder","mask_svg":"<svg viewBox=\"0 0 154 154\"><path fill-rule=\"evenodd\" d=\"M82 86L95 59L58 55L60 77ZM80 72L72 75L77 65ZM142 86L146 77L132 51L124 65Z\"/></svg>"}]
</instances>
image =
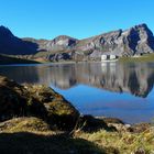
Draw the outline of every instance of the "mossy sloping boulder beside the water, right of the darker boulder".
<instances>
[{"instance_id":1,"label":"mossy sloping boulder beside the water, right of the darker boulder","mask_svg":"<svg viewBox=\"0 0 154 154\"><path fill-rule=\"evenodd\" d=\"M30 94L42 102L47 111L47 121L56 129L73 129L79 112L63 96L45 86L28 86Z\"/></svg>"}]
</instances>

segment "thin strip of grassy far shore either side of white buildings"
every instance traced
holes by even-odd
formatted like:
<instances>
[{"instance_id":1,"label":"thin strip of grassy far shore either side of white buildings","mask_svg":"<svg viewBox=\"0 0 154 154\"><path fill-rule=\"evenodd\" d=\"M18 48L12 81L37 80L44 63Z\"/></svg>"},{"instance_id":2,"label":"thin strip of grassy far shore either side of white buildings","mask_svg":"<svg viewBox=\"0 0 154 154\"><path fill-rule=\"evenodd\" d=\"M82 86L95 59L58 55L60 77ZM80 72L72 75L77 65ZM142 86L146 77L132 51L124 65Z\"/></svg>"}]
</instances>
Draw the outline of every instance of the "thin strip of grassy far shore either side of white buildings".
<instances>
[{"instance_id":1,"label":"thin strip of grassy far shore either side of white buildings","mask_svg":"<svg viewBox=\"0 0 154 154\"><path fill-rule=\"evenodd\" d=\"M31 57L31 56L9 56L0 54L0 65L11 65L11 64L69 64L69 63L79 63L79 62L100 62L100 59L85 59L85 61L75 61L75 59L62 59L62 61L48 61L43 57ZM145 54L142 56L132 56L132 57L120 57L119 62L121 63L133 63L133 62L154 62L154 54Z\"/></svg>"}]
</instances>

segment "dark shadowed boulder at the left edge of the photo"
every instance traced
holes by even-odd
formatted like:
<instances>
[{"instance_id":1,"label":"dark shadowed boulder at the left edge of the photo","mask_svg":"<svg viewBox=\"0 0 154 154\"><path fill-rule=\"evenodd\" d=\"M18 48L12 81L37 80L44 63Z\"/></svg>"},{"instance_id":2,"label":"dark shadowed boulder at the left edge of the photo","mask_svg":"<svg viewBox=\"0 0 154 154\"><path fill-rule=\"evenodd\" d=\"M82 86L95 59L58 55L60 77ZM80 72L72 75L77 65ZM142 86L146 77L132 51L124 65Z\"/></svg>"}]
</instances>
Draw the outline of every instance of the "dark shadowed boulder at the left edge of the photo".
<instances>
[{"instance_id":1,"label":"dark shadowed boulder at the left edge of the photo","mask_svg":"<svg viewBox=\"0 0 154 154\"><path fill-rule=\"evenodd\" d=\"M45 108L21 85L0 76L0 121L14 117L45 117Z\"/></svg>"}]
</instances>

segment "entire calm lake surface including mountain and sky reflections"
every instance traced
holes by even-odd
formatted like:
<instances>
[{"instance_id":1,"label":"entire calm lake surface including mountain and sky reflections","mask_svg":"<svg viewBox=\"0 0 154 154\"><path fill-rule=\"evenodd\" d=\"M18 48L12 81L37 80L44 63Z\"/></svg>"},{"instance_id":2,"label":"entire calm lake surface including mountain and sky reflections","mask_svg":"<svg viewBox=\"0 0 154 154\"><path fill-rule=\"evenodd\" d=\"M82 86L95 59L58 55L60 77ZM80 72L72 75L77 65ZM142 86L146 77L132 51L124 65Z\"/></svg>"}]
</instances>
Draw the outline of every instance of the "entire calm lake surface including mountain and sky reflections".
<instances>
[{"instance_id":1,"label":"entire calm lake surface including mountain and sky reflections","mask_svg":"<svg viewBox=\"0 0 154 154\"><path fill-rule=\"evenodd\" d=\"M154 63L79 63L0 66L23 84L44 84L82 114L120 118L127 123L154 119Z\"/></svg>"}]
</instances>

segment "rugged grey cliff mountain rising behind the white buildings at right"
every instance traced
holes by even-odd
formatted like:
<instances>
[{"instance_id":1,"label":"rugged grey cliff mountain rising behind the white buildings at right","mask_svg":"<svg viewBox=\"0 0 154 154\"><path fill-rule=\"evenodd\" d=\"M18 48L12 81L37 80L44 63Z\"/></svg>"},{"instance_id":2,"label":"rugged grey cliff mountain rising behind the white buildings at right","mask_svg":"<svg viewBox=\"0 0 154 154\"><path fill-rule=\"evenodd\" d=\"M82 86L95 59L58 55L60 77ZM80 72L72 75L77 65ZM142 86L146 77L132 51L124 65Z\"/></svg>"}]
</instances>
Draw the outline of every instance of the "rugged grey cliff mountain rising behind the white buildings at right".
<instances>
[{"instance_id":1,"label":"rugged grey cliff mountain rising behind the white buildings at right","mask_svg":"<svg viewBox=\"0 0 154 154\"><path fill-rule=\"evenodd\" d=\"M88 53L89 58L99 58L102 54L132 56L153 53L154 36L146 24L141 24L125 31L113 31L82 40L77 44L76 51Z\"/></svg>"}]
</instances>

